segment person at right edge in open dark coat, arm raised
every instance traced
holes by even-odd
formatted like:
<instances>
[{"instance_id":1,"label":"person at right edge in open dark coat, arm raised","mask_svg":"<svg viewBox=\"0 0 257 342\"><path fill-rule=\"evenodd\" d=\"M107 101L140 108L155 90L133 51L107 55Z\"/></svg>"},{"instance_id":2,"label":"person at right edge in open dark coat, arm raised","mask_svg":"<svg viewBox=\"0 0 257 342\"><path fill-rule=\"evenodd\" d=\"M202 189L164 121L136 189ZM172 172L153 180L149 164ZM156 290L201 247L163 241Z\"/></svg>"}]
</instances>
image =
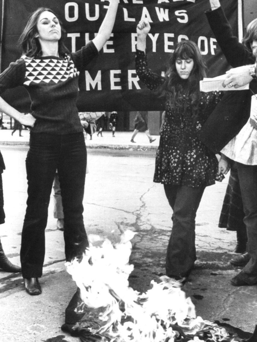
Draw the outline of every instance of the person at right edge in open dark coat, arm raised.
<instances>
[{"instance_id":1,"label":"person at right edge in open dark coat, arm raised","mask_svg":"<svg viewBox=\"0 0 257 342\"><path fill-rule=\"evenodd\" d=\"M232 67L248 65L246 68L252 82L249 84L249 90L227 92L224 95L203 126L199 137L210 148L215 146L221 152L222 159L230 158L235 162L248 240L247 252L231 260L235 266L244 266L242 271L231 279L231 284L254 285L257 284L257 130L251 125L249 116L252 96L257 94L254 55L257 48L257 19L247 25L240 43L233 35L219 0L209 0L209 3L211 9L206 12L207 19L225 58ZM229 80L228 87L233 90L238 83L233 82L233 76L229 77Z\"/></svg>"}]
</instances>

